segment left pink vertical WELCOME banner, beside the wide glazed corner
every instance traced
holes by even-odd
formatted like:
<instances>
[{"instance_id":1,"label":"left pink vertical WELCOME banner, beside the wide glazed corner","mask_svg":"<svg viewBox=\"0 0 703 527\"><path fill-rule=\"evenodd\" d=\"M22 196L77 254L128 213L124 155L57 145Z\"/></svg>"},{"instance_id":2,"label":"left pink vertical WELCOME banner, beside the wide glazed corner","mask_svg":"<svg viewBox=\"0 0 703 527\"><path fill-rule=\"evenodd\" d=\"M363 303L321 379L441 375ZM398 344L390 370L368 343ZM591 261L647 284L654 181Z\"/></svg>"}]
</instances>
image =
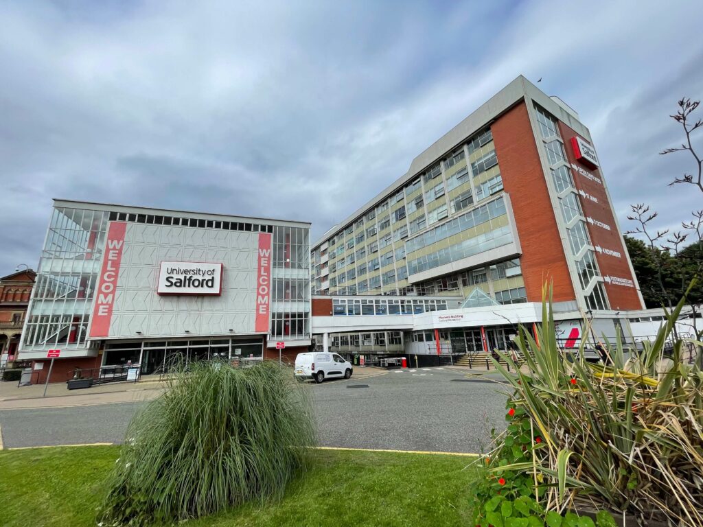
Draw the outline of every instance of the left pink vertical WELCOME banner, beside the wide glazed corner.
<instances>
[{"instance_id":1,"label":"left pink vertical WELCOME banner, beside the wide glazed corner","mask_svg":"<svg viewBox=\"0 0 703 527\"><path fill-rule=\"evenodd\" d=\"M117 276L120 274L126 230L127 223L110 222L108 239L105 240L103 268L98 277L98 289L95 292L96 299L90 327L91 337L108 337L110 334L112 306L115 304L115 288L117 287Z\"/></svg>"}]
</instances>

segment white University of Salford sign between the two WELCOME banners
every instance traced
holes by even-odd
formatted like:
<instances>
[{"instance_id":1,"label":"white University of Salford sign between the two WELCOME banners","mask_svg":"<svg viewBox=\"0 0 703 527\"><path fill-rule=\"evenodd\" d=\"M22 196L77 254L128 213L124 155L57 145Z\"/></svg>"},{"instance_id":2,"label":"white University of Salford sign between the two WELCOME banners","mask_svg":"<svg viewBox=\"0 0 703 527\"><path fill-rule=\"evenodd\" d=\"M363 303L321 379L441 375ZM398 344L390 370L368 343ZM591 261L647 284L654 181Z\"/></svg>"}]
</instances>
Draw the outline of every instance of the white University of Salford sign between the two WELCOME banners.
<instances>
[{"instance_id":1,"label":"white University of Salford sign between the two WELCOME banners","mask_svg":"<svg viewBox=\"0 0 703 527\"><path fill-rule=\"evenodd\" d=\"M162 261L158 294L217 295L222 292L222 264L198 261Z\"/></svg>"}]
</instances>

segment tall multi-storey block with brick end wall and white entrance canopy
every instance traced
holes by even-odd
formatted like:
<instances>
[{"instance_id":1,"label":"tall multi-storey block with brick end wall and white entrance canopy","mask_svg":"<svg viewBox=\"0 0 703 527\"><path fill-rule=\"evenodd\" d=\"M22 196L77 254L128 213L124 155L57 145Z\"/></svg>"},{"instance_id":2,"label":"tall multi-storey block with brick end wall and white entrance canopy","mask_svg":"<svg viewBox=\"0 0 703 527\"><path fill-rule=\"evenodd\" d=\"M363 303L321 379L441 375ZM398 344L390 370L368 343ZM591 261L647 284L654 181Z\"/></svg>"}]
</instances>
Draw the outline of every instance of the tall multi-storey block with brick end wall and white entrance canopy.
<instances>
[{"instance_id":1,"label":"tall multi-storey block with brick end wall and white entrance canopy","mask_svg":"<svg viewBox=\"0 0 703 527\"><path fill-rule=\"evenodd\" d=\"M391 309L406 319L406 352L505 349L517 323L540 320L546 281L565 341L583 317L600 338L644 307L588 128L521 76L314 243L314 332L363 351L359 309L373 295L386 323ZM416 297L460 308L442 318L449 306L404 307Z\"/></svg>"}]
</instances>

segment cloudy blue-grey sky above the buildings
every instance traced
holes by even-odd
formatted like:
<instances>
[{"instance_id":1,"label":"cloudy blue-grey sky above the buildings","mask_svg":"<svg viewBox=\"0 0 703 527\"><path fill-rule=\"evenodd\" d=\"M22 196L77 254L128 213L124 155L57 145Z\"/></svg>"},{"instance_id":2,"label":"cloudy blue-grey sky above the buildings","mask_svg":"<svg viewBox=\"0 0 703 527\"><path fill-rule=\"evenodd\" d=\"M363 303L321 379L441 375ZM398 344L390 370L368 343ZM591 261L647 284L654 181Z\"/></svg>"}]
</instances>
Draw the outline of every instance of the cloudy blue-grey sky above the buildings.
<instances>
[{"instance_id":1,"label":"cloudy blue-grey sky above the buildings","mask_svg":"<svg viewBox=\"0 0 703 527\"><path fill-rule=\"evenodd\" d=\"M668 116L703 98L700 1L0 2L0 275L51 198L313 222L518 74L591 129L614 207L703 208ZM703 110L699 111L703 117ZM703 133L698 143L703 150Z\"/></svg>"}]
</instances>

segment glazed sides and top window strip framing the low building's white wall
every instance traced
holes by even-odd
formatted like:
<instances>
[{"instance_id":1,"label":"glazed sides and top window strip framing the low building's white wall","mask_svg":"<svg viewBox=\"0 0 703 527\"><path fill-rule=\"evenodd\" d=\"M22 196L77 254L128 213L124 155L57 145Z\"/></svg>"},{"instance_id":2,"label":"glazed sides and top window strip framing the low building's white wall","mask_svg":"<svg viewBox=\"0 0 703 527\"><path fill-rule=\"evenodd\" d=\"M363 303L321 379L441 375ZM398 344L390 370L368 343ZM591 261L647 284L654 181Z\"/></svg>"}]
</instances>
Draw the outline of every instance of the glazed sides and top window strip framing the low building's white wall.
<instances>
[{"instance_id":1,"label":"glazed sides and top window strip framing the low building's white wall","mask_svg":"<svg viewBox=\"0 0 703 527\"><path fill-rule=\"evenodd\" d=\"M111 220L271 233L271 337L310 338L309 228L99 208L53 208L23 332L23 351L91 347L88 327Z\"/></svg>"}]
</instances>

